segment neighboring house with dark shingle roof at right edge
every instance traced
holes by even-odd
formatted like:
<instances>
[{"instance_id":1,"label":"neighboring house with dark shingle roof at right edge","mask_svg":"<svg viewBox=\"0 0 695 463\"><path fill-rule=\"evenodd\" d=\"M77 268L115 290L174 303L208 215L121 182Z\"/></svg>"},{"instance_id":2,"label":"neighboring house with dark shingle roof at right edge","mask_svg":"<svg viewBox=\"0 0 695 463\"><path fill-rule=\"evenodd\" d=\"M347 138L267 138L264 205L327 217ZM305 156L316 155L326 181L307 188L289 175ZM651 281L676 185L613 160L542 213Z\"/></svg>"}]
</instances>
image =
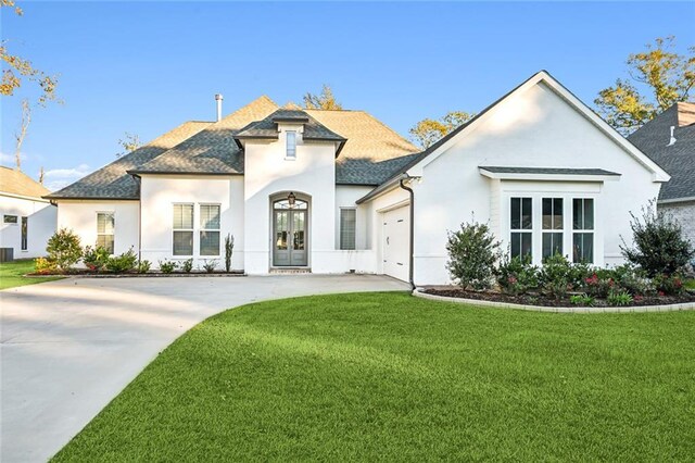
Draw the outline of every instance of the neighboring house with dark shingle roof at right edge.
<instances>
[{"instance_id":1,"label":"neighboring house with dark shingle roof at right edge","mask_svg":"<svg viewBox=\"0 0 695 463\"><path fill-rule=\"evenodd\" d=\"M658 209L678 218L695 246L695 103L673 104L628 139L671 175Z\"/></svg>"}]
</instances>

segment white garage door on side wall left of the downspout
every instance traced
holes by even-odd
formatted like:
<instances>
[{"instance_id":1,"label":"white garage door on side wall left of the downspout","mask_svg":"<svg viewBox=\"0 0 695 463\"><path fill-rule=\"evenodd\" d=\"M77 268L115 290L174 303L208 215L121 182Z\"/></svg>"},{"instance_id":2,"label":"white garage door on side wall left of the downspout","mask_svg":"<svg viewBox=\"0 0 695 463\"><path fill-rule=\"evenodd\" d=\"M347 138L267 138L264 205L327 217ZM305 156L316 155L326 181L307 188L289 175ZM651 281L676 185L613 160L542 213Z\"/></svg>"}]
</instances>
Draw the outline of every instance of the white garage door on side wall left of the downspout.
<instances>
[{"instance_id":1,"label":"white garage door on side wall left of the downspout","mask_svg":"<svg viewBox=\"0 0 695 463\"><path fill-rule=\"evenodd\" d=\"M409 205L384 212L381 216L383 273L407 281L410 252Z\"/></svg>"}]
</instances>

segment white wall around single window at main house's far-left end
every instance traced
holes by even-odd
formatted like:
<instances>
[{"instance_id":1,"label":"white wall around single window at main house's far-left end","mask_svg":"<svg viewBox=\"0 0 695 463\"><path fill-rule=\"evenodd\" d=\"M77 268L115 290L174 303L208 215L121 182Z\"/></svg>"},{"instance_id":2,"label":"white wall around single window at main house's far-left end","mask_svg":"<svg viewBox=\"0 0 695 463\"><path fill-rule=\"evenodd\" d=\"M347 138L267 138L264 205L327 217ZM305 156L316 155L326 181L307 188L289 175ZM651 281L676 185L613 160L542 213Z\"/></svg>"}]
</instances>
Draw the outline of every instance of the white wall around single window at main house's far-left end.
<instances>
[{"instance_id":1,"label":"white wall around single window at main house's far-left end","mask_svg":"<svg viewBox=\"0 0 695 463\"><path fill-rule=\"evenodd\" d=\"M138 252L138 201L60 200L58 203L58 227L70 228L79 236L81 246L97 243L97 213L114 214L114 253L121 254L130 248Z\"/></svg>"}]
</instances>

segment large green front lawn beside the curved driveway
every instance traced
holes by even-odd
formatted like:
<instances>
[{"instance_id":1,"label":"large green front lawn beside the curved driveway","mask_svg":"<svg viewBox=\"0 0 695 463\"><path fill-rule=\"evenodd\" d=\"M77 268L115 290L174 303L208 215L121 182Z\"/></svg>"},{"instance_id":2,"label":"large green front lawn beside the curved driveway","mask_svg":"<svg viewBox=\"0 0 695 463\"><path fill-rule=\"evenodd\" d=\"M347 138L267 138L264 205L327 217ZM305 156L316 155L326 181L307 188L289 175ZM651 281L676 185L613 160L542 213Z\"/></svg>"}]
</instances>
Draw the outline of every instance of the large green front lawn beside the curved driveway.
<instances>
[{"instance_id":1,"label":"large green front lawn beside the curved driveway","mask_svg":"<svg viewBox=\"0 0 695 463\"><path fill-rule=\"evenodd\" d=\"M694 342L695 312L255 303L180 337L55 461L686 461Z\"/></svg>"}]
</instances>

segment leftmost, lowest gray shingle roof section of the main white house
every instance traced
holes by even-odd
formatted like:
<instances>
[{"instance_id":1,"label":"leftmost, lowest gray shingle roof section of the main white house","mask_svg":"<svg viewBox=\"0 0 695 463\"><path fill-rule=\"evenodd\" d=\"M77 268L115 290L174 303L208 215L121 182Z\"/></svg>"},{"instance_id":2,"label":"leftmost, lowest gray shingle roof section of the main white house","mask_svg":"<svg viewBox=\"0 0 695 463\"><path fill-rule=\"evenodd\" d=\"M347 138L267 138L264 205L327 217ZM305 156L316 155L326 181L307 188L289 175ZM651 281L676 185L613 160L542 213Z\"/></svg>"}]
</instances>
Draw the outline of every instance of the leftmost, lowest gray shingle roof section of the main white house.
<instances>
[{"instance_id":1,"label":"leftmost, lowest gray shingle roof section of the main white house","mask_svg":"<svg viewBox=\"0 0 695 463\"><path fill-rule=\"evenodd\" d=\"M182 140L200 133L210 122L187 122L167 132L148 145L117 159L106 166L80 178L72 185L45 198L49 199L138 199L140 187L127 173L178 145Z\"/></svg>"}]
</instances>

